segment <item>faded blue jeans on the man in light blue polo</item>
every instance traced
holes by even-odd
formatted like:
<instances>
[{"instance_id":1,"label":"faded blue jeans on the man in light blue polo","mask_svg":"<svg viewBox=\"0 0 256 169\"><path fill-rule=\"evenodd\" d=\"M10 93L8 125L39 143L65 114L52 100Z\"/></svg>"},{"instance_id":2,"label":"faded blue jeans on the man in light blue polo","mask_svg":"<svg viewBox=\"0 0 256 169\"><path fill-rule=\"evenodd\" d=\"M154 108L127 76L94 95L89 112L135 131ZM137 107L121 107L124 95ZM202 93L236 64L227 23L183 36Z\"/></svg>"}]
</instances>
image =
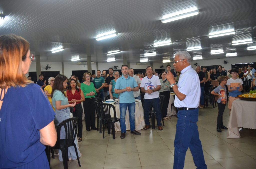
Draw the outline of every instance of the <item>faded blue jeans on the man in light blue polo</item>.
<instances>
[{"instance_id":1,"label":"faded blue jeans on the man in light blue polo","mask_svg":"<svg viewBox=\"0 0 256 169\"><path fill-rule=\"evenodd\" d=\"M121 127L121 132L126 132L126 126L125 126L125 115L126 115L126 110L128 107L129 111L129 120L130 120L130 128L131 131L135 129L135 102L133 103L120 103L120 127Z\"/></svg>"}]
</instances>

